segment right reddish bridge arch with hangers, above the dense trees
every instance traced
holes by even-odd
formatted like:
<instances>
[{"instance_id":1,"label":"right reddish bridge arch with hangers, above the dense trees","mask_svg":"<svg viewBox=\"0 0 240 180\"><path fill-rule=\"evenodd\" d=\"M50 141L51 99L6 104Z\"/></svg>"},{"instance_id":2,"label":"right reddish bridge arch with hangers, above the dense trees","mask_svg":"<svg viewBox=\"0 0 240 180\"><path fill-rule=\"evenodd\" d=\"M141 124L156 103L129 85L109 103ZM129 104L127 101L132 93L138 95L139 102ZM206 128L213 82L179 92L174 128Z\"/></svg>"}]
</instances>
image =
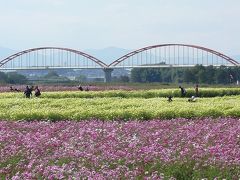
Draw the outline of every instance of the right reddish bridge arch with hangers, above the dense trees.
<instances>
[{"instance_id":1,"label":"right reddish bridge arch with hangers, above the dense trees","mask_svg":"<svg viewBox=\"0 0 240 180\"><path fill-rule=\"evenodd\" d=\"M151 52L151 50L155 50L155 52ZM147 52L148 57L147 57ZM172 56L170 56L170 51ZM146 56L142 57L143 53L146 52ZM162 53L162 54L161 54ZM157 54L157 55L156 55ZM163 58L165 57L165 59ZM168 62L167 62L168 56ZM187 57L185 57L187 56ZM193 56L193 57L190 57ZM210 57L209 57L210 56ZM135 57L135 59L134 59ZM147 59L149 58L150 61ZM154 62L151 62L151 58L154 59ZM186 59L184 59L186 58ZM215 59L214 59L215 58ZM159 61L156 61L159 59ZM131 61L124 64L125 61ZM185 60L185 63L184 63ZM144 63L138 63L140 61L144 61ZM189 62L192 63L189 63ZM109 67L117 68L117 67L166 67L166 66L176 66L176 67L187 67L194 66L197 64L202 65L213 65L213 66L221 66L228 64L228 66L238 66L239 63L230 58L227 55L224 55L218 51L197 46L197 45L188 45L188 44L160 44L154 46L144 47L135 51L132 51L119 59L115 60Z\"/></svg>"}]
</instances>

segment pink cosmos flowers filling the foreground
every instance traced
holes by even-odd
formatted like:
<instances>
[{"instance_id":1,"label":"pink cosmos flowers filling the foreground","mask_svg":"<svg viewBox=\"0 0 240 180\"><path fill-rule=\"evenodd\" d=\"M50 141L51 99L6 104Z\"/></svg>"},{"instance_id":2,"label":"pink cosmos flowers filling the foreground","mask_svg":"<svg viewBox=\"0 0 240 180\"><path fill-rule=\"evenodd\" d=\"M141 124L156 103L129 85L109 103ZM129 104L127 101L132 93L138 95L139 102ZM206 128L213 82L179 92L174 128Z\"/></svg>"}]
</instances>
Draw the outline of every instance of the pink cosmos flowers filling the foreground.
<instances>
[{"instance_id":1,"label":"pink cosmos flowers filling the foreground","mask_svg":"<svg viewBox=\"0 0 240 180\"><path fill-rule=\"evenodd\" d=\"M239 178L239 166L239 119L0 121L0 178Z\"/></svg>"}]
</instances>

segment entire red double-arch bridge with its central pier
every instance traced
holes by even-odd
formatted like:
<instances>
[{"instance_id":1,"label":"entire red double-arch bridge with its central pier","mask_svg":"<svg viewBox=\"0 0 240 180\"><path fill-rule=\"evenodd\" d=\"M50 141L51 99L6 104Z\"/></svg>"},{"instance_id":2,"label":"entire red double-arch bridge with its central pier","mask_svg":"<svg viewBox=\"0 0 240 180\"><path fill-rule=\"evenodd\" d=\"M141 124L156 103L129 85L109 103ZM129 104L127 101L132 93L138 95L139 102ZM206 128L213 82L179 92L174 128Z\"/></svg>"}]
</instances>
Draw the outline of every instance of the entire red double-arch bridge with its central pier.
<instances>
[{"instance_id":1,"label":"entire red double-arch bridge with its central pier","mask_svg":"<svg viewBox=\"0 0 240 180\"><path fill-rule=\"evenodd\" d=\"M41 47L18 52L0 61L0 70L103 69L105 81L116 68L160 68L203 66L239 66L218 51L187 44L160 44L132 51L111 64L82 51Z\"/></svg>"}]
</instances>

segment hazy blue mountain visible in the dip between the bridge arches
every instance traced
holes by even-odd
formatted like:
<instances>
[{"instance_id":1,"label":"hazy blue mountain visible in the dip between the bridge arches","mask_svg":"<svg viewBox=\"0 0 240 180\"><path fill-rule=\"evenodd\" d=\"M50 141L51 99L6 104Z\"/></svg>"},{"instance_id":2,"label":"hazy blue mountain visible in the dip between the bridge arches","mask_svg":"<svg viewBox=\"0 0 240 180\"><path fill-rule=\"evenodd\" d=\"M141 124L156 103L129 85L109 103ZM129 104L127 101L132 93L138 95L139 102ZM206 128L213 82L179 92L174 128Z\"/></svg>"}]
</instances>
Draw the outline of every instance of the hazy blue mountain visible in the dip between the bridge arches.
<instances>
[{"instance_id":1,"label":"hazy blue mountain visible in the dip between the bridge arches","mask_svg":"<svg viewBox=\"0 0 240 180\"><path fill-rule=\"evenodd\" d=\"M108 47L104 49L87 49L86 53L98 58L99 60L105 62L106 64L112 63L114 60L124 56L125 54L131 52L129 49L122 49L117 47Z\"/></svg>"}]
</instances>

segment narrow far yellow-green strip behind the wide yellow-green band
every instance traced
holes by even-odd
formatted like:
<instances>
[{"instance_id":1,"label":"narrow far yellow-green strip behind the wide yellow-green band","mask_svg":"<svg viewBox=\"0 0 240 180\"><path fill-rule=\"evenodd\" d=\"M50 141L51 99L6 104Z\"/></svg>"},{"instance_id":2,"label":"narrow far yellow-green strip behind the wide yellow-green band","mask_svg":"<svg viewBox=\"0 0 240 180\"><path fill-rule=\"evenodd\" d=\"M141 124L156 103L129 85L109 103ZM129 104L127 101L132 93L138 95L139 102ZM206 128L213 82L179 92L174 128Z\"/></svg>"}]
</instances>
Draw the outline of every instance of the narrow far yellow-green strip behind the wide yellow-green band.
<instances>
[{"instance_id":1,"label":"narrow far yellow-green strip behind the wide yellow-green band","mask_svg":"<svg viewBox=\"0 0 240 180\"><path fill-rule=\"evenodd\" d=\"M186 97L195 95L193 88L188 88ZM106 90L106 91L60 91L44 92L41 98L155 98L167 96L181 97L180 90L155 89L155 90ZM240 88L201 88L199 97L222 97L240 95ZM0 93L0 98L23 98L23 93Z\"/></svg>"}]
</instances>

